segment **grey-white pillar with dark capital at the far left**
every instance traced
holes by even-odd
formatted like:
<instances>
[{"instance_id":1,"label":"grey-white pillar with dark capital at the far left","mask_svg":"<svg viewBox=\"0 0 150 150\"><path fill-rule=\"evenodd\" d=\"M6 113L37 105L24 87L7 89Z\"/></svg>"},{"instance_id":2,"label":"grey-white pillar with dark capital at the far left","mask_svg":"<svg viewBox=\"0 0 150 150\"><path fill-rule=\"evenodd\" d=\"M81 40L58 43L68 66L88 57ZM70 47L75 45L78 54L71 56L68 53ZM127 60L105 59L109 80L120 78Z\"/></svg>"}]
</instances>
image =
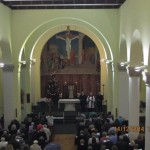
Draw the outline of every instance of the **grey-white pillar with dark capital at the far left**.
<instances>
[{"instance_id":1,"label":"grey-white pillar with dark capital at the far left","mask_svg":"<svg viewBox=\"0 0 150 150\"><path fill-rule=\"evenodd\" d=\"M15 105L14 65L5 64L3 67L3 102L4 102L4 129L17 117Z\"/></svg>"}]
</instances>

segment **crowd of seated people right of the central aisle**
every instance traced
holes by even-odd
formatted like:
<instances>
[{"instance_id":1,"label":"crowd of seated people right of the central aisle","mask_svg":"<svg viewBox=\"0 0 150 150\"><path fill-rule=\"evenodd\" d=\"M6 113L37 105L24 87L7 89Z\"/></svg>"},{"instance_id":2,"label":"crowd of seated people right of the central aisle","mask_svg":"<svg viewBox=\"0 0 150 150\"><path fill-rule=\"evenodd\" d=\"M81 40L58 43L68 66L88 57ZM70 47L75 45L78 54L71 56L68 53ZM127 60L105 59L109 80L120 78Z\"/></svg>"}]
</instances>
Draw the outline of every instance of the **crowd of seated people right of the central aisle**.
<instances>
[{"instance_id":1,"label":"crowd of seated people right of the central aisle","mask_svg":"<svg viewBox=\"0 0 150 150\"><path fill-rule=\"evenodd\" d=\"M114 120L111 112L81 114L75 137L77 150L144 150L144 132L130 141L128 131L122 130L127 126L127 120L121 116Z\"/></svg>"}]
</instances>

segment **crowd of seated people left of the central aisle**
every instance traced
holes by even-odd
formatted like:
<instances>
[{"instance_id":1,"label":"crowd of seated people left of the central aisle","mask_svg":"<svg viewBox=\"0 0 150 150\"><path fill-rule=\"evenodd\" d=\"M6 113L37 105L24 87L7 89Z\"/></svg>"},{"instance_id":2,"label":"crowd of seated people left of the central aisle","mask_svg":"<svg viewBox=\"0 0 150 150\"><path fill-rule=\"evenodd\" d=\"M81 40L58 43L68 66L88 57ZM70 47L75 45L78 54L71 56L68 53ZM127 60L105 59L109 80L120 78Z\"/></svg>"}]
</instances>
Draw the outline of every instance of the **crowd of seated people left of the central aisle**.
<instances>
[{"instance_id":1,"label":"crowd of seated people left of the central aisle","mask_svg":"<svg viewBox=\"0 0 150 150\"><path fill-rule=\"evenodd\" d=\"M0 150L60 150L52 143L54 135L52 116L32 113L21 124L14 119L8 129L1 128Z\"/></svg>"}]
</instances>

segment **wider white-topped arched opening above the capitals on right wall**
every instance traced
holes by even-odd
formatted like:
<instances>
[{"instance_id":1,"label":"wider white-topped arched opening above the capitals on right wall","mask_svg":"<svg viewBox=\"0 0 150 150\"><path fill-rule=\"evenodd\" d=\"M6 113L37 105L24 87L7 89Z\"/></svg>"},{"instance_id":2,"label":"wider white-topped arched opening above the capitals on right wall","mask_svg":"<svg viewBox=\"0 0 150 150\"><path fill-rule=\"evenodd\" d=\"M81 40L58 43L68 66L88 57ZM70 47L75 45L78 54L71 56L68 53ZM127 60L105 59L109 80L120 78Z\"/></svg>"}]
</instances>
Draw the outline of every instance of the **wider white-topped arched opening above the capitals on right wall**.
<instances>
[{"instance_id":1,"label":"wider white-topped arched opening above the capitals on right wall","mask_svg":"<svg viewBox=\"0 0 150 150\"><path fill-rule=\"evenodd\" d=\"M141 66L143 63L143 45L138 30L133 32L130 49L130 66Z\"/></svg>"}]
</instances>

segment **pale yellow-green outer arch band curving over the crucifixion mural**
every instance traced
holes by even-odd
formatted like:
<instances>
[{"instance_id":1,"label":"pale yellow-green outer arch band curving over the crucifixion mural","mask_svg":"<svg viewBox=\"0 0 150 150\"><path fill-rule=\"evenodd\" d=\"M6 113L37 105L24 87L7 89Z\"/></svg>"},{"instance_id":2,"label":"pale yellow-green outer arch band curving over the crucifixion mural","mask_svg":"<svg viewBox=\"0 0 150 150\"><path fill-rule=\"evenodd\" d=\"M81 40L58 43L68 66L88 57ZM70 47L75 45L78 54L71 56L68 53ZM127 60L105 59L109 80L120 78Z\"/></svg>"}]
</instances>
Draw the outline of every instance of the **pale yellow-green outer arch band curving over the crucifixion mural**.
<instances>
[{"instance_id":1,"label":"pale yellow-green outer arch band curving over the crucifixion mural","mask_svg":"<svg viewBox=\"0 0 150 150\"><path fill-rule=\"evenodd\" d=\"M91 39L95 43L97 43L96 45L98 45L98 46L100 45L100 43L103 43L101 45L103 45L102 47L105 49L105 53L107 55L107 58L113 59L110 45L107 42L105 36L93 25L91 25L88 22L85 22L83 20L77 19L77 18L56 18L56 19L47 21L46 23L43 23L42 25L38 26L27 37L24 44L22 45L22 49L24 46L28 45L29 41L30 41L30 45L35 45L35 43L39 42L39 40L40 40L39 37L41 37L41 35L43 35L43 33L46 34L49 32L50 34L47 37L47 39L49 39L52 35L54 35L58 32L65 31L65 29L60 31L60 27L63 25L70 25L72 27L75 27L76 31L85 33L86 35L90 36ZM87 26L87 27L85 28L85 26ZM31 44L31 41L33 41L32 44ZM20 51L19 59L21 59L21 53L22 53L22 50Z\"/></svg>"}]
</instances>

